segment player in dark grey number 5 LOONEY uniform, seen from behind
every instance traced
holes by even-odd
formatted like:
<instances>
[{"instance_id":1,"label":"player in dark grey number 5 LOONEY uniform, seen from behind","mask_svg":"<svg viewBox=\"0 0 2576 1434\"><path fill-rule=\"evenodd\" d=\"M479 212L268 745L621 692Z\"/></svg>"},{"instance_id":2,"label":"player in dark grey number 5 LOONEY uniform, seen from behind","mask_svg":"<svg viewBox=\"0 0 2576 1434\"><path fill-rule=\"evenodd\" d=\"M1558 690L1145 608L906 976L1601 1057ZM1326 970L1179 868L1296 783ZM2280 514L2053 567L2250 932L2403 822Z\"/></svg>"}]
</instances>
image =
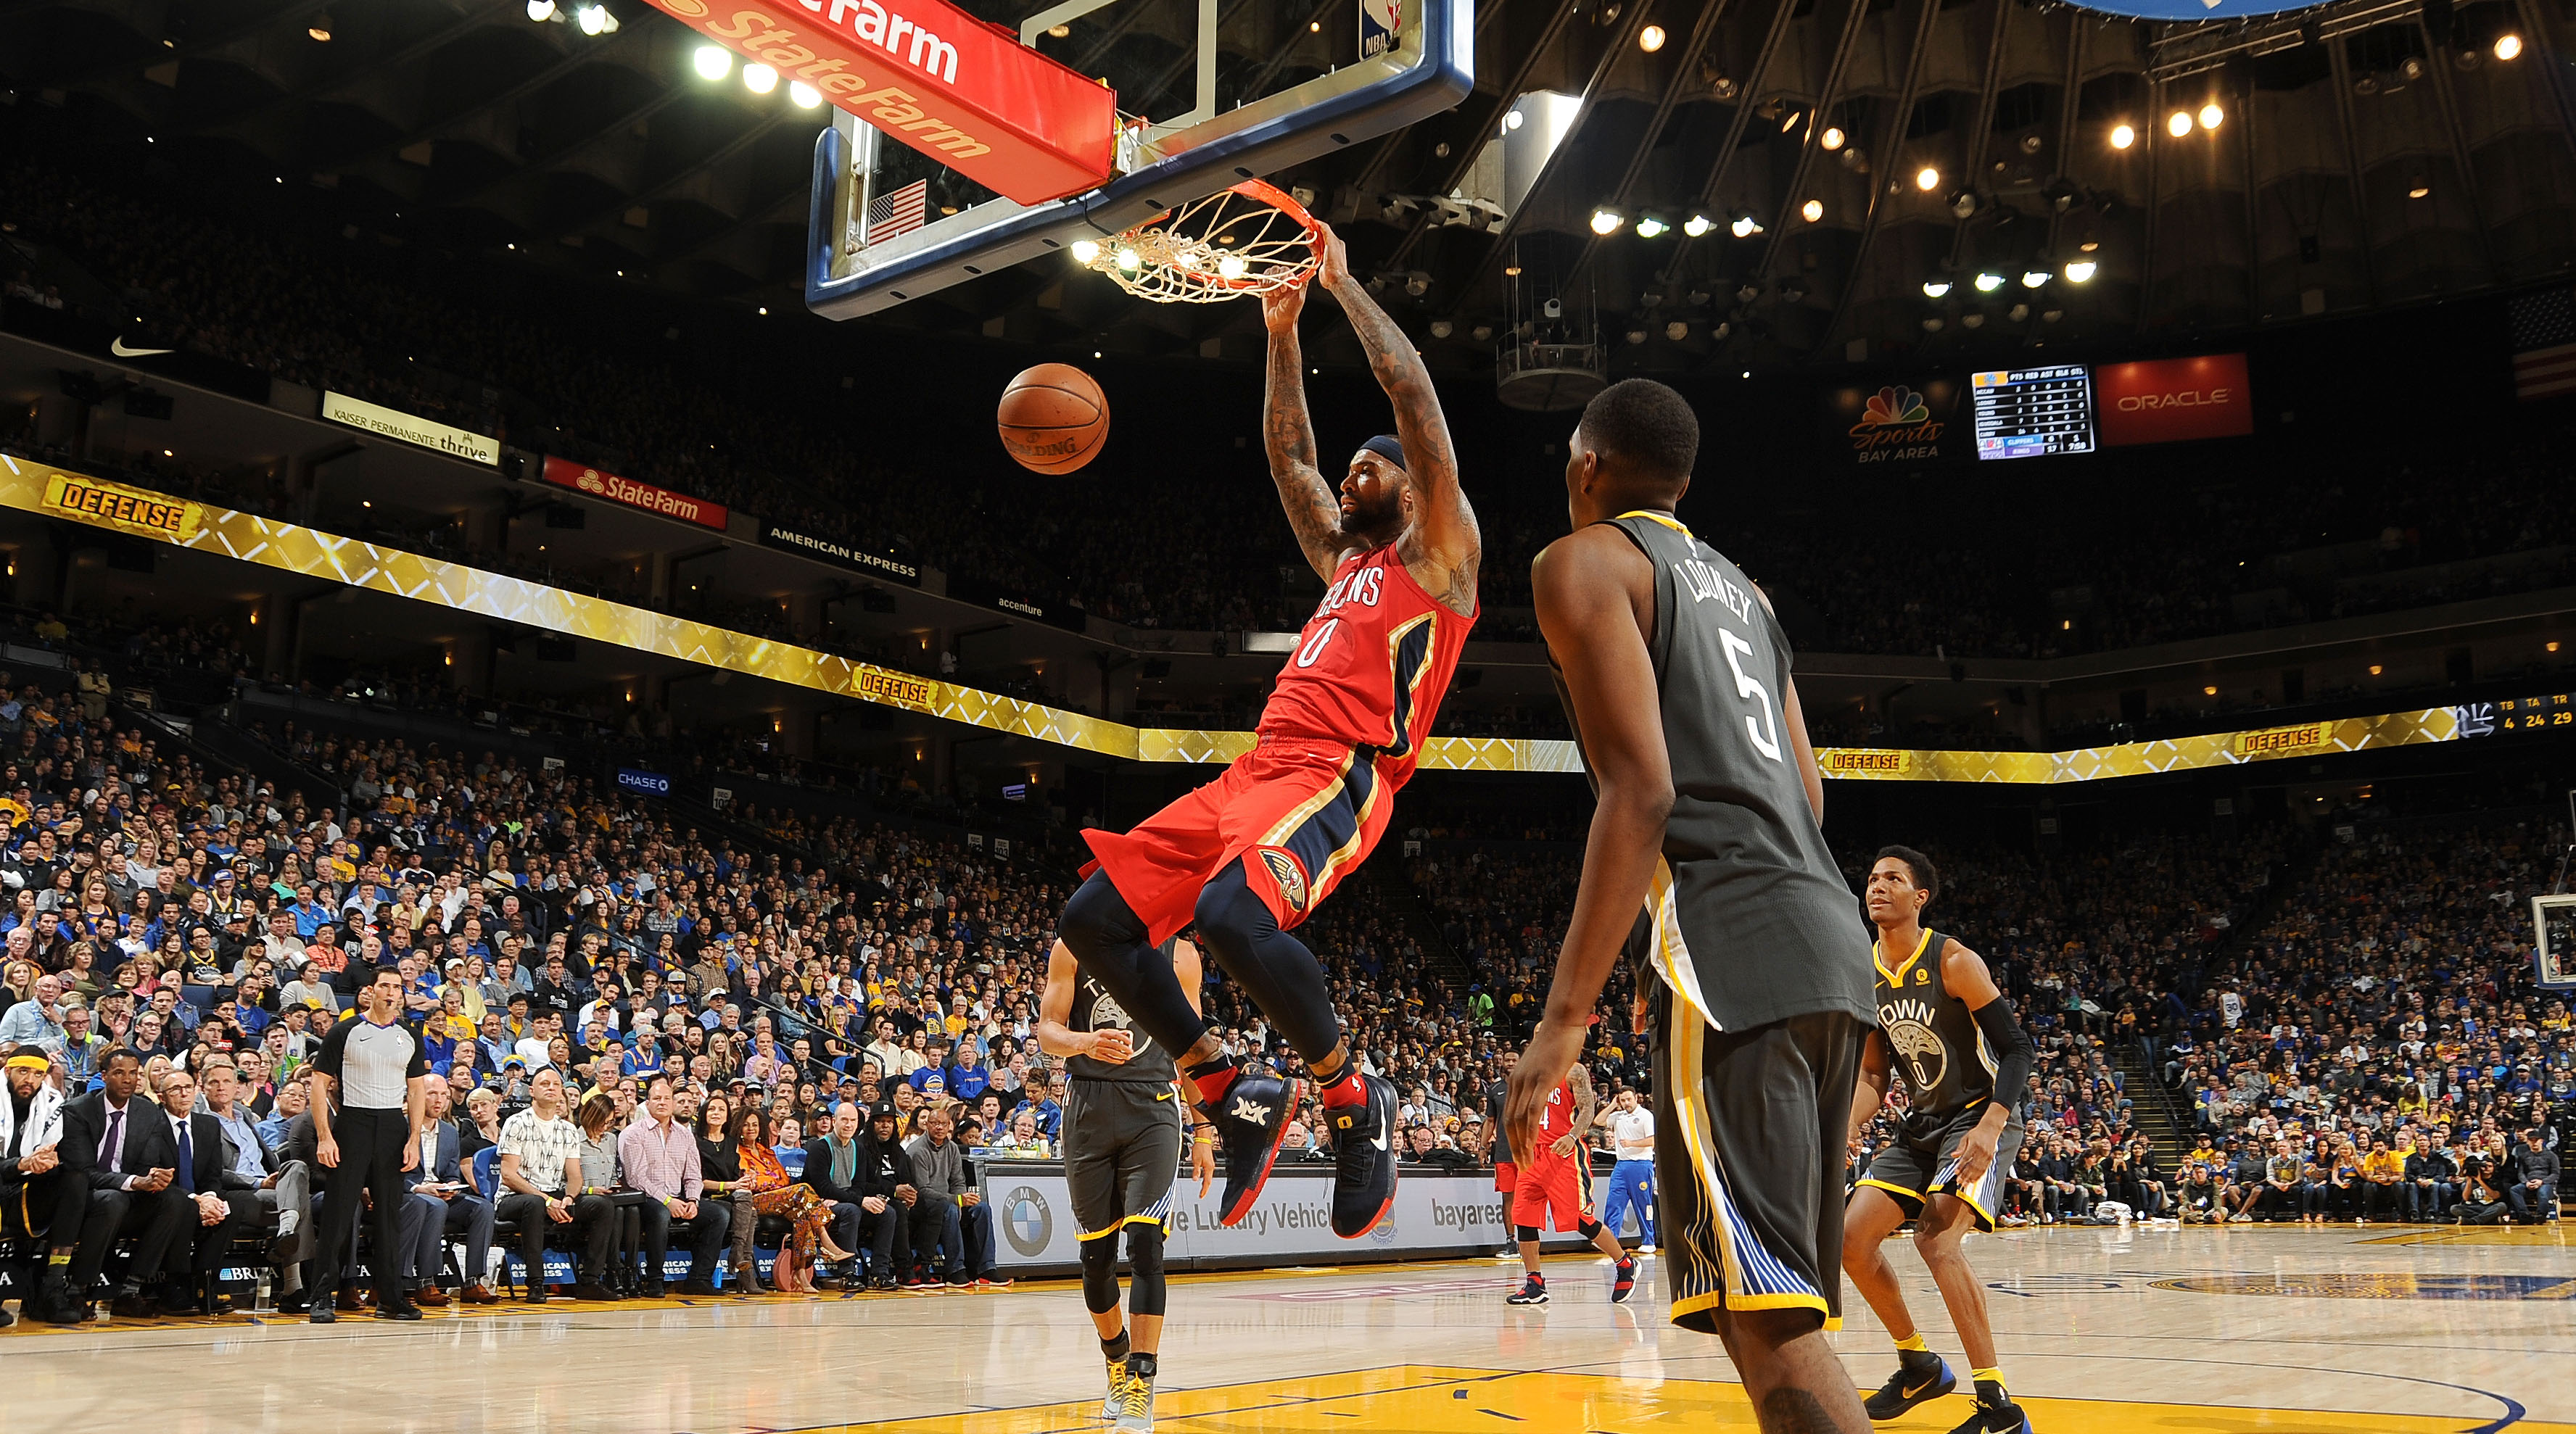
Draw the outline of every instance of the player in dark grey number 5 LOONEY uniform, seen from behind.
<instances>
[{"instance_id":1,"label":"player in dark grey number 5 LOONEY uniform, seen from behind","mask_svg":"<svg viewBox=\"0 0 2576 1434\"><path fill-rule=\"evenodd\" d=\"M1574 533L1530 584L1600 796L1546 1020L1512 1068L1512 1148L1646 945L1656 1200L1672 1323L1716 1334L1770 1434L1862 1434L1842 1316L1844 1120L1870 953L1819 826L1824 780L1770 602L1674 515L1700 422L1628 378L1574 427ZM1638 917L1643 911L1643 919Z\"/></svg>"}]
</instances>

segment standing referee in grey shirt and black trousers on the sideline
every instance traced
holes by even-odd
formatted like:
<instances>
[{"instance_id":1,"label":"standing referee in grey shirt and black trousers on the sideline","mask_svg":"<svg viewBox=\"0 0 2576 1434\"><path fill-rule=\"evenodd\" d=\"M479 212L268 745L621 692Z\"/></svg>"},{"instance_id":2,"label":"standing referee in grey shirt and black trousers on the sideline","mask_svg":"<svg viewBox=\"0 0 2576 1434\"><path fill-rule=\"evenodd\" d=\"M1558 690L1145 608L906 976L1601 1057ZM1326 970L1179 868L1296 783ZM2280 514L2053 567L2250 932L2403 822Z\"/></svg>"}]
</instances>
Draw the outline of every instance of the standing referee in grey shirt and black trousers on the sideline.
<instances>
[{"instance_id":1,"label":"standing referee in grey shirt and black trousers on the sideline","mask_svg":"<svg viewBox=\"0 0 2576 1434\"><path fill-rule=\"evenodd\" d=\"M325 1171L312 1321L332 1323L340 1318L332 1298L340 1285L340 1264L348 1259L361 1192L376 1197L376 1318L417 1321L420 1305L402 1292L394 1264L402 1262L397 1220L410 1195L402 1187L402 1171L420 1159L430 1058L420 1035L402 1025L402 971L392 965L376 971L376 978L358 991L358 1017L330 1027L322 1048L314 1050L312 1068L322 1076L312 1115L314 1156ZM332 1115L332 1104L337 1104L337 1115Z\"/></svg>"}]
</instances>

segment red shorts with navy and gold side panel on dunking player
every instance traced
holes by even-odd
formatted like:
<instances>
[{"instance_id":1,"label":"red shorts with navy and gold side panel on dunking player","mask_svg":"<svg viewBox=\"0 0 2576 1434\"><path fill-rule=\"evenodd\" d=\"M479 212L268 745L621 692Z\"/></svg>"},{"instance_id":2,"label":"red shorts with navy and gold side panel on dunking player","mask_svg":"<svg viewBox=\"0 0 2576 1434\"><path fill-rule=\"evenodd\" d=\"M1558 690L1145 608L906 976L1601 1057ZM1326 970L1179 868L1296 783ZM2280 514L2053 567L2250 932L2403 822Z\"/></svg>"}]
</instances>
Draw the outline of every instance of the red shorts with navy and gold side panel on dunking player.
<instances>
[{"instance_id":1,"label":"red shorts with navy and gold side panel on dunking player","mask_svg":"<svg viewBox=\"0 0 2576 1434\"><path fill-rule=\"evenodd\" d=\"M1350 744L1262 736L1221 778L1136 829L1087 829L1082 839L1144 919L1149 942L1188 927L1198 893L1234 862L1288 929L1368 860L1396 811L1394 788Z\"/></svg>"}]
</instances>

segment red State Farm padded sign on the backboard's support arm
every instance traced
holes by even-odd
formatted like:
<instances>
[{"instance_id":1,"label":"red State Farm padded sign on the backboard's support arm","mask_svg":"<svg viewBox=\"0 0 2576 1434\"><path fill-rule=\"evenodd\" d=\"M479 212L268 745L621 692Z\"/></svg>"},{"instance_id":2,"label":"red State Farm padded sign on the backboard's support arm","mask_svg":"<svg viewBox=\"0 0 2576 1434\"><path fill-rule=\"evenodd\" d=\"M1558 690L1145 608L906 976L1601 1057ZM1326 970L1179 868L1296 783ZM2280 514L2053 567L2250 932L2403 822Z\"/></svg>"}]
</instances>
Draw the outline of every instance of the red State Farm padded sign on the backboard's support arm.
<instances>
[{"instance_id":1,"label":"red State Farm padded sign on the backboard's support arm","mask_svg":"<svg viewBox=\"0 0 2576 1434\"><path fill-rule=\"evenodd\" d=\"M1005 198L1110 180L1118 95L943 0L652 5Z\"/></svg>"}]
</instances>

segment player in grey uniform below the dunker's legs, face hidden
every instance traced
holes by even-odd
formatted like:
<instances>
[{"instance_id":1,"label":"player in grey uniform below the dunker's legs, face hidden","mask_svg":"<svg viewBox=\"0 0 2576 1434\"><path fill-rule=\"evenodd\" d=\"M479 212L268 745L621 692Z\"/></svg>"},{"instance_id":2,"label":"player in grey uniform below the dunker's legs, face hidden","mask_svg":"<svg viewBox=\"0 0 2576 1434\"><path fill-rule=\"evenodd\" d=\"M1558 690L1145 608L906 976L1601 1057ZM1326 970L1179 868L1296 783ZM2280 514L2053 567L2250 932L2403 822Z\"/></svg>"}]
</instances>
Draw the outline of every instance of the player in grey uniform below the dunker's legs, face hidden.
<instances>
[{"instance_id":1,"label":"player in grey uniform below the dunker's legs, face hidden","mask_svg":"<svg viewBox=\"0 0 2576 1434\"><path fill-rule=\"evenodd\" d=\"M1198 1012L1198 947L1162 942L1190 1012ZM1046 958L1038 996L1038 1048L1064 1058L1064 1189L1082 1233L1082 1305L1108 1359L1108 1398L1100 1419L1123 1434L1154 1429L1154 1377L1162 1357L1162 1238L1172 1223L1172 1179L1180 1171L1182 1128L1198 1192L1216 1179L1216 1133L1190 1104L1172 1050L1136 1030L1118 1001L1092 983L1074 953L1056 942ZM1133 1331L1118 1310L1118 1238L1128 1246L1128 1300Z\"/></svg>"}]
</instances>

